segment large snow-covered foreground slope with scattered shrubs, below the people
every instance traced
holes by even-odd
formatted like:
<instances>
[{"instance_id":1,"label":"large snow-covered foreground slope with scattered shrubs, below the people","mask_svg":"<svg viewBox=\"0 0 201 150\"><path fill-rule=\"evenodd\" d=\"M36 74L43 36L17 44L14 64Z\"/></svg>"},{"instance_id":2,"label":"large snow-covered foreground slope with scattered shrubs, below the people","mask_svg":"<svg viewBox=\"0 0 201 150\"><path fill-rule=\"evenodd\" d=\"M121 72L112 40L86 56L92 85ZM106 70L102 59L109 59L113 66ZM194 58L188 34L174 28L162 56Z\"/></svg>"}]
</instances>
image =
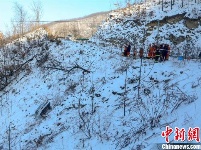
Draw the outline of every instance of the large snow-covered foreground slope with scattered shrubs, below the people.
<instances>
[{"instance_id":1,"label":"large snow-covered foreground slope with scattered shrubs, below the people","mask_svg":"<svg viewBox=\"0 0 201 150\"><path fill-rule=\"evenodd\" d=\"M201 126L199 60L141 62L93 40L50 40L40 29L5 46L3 64L16 67L0 91L0 149L149 150L165 143L166 126Z\"/></svg>"}]
</instances>

